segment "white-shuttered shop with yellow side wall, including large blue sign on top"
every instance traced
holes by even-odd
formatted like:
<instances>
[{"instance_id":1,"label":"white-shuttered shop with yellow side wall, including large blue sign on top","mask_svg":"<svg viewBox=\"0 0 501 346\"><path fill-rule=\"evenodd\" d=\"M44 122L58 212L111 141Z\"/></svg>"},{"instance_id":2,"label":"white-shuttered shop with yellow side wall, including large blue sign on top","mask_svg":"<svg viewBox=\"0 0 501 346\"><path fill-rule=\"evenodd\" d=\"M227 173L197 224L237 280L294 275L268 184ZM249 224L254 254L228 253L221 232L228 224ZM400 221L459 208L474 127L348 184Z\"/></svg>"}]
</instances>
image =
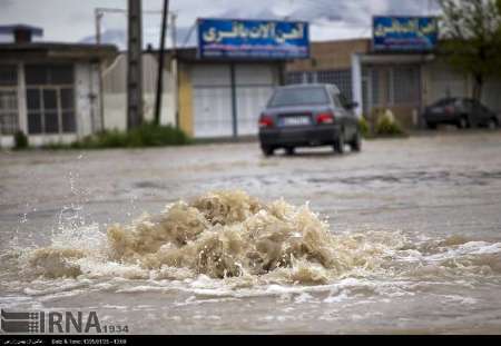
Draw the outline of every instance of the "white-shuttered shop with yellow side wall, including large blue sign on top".
<instances>
[{"instance_id":1,"label":"white-shuttered shop with yellow side wall, including large blue sign on top","mask_svg":"<svg viewBox=\"0 0 501 346\"><path fill-rule=\"evenodd\" d=\"M305 22L198 20L197 49L176 51L181 129L195 138L256 135L285 62L308 56Z\"/></svg>"}]
</instances>

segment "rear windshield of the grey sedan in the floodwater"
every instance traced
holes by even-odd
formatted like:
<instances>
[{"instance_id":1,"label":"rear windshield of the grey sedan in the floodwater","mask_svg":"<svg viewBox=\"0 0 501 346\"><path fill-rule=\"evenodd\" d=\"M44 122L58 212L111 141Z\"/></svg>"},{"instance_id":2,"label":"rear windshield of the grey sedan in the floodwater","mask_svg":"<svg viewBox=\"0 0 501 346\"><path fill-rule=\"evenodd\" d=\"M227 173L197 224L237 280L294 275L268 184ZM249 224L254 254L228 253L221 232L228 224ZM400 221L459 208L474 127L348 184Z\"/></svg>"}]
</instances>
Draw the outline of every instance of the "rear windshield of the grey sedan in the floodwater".
<instances>
[{"instance_id":1,"label":"rear windshield of the grey sedan in the floodwater","mask_svg":"<svg viewBox=\"0 0 501 346\"><path fill-rule=\"evenodd\" d=\"M268 107L325 105L328 96L324 88L293 88L278 89L268 103Z\"/></svg>"}]
</instances>

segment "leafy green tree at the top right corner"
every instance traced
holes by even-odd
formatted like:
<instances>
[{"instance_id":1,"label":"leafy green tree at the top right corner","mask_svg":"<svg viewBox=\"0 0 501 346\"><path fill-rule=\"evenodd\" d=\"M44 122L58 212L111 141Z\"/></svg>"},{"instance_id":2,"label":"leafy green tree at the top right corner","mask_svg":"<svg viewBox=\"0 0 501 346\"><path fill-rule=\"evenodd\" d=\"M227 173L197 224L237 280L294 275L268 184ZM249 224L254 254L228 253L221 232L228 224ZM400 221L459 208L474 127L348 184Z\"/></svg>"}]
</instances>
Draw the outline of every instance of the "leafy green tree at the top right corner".
<instances>
[{"instance_id":1,"label":"leafy green tree at the top right corner","mask_svg":"<svg viewBox=\"0 0 501 346\"><path fill-rule=\"evenodd\" d=\"M501 76L501 0L439 0L442 51L458 71L472 76L472 97L487 79Z\"/></svg>"}]
</instances>

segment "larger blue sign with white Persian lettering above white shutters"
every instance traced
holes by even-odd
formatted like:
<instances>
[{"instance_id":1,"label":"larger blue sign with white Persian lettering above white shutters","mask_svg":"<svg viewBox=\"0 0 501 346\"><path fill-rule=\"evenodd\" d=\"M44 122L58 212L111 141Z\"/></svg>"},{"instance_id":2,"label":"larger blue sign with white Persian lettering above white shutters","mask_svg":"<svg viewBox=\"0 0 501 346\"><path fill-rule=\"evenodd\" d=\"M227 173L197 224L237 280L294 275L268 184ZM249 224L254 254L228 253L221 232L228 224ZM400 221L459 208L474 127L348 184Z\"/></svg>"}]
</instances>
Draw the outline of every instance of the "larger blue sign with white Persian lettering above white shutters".
<instances>
[{"instance_id":1,"label":"larger blue sign with white Persian lettering above white shutters","mask_svg":"<svg viewBox=\"0 0 501 346\"><path fill-rule=\"evenodd\" d=\"M200 58L307 59L307 22L268 20L198 20Z\"/></svg>"}]
</instances>

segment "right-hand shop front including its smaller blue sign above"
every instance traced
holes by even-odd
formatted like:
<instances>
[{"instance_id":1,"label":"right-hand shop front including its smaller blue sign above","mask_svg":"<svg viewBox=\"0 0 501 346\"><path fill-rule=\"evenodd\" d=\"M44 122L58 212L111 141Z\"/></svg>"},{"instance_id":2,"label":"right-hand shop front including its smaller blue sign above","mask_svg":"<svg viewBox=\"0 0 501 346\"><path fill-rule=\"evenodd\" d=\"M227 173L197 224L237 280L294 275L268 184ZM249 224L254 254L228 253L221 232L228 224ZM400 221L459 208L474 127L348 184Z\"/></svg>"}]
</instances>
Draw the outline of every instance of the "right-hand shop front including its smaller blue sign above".
<instances>
[{"instance_id":1,"label":"right-hand shop front including its smaller blue sign above","mask_svg":"<svg viewBox=\"0 0 501 346\"><path fill-rule=\"evenodd\" d=\"M433 17L374 17L370 51L352 56L353 99L370 116L391 109L404 127L419 126L429 101L425 70L435 57L438 20Z\"/></svg>"}]
</instances>

